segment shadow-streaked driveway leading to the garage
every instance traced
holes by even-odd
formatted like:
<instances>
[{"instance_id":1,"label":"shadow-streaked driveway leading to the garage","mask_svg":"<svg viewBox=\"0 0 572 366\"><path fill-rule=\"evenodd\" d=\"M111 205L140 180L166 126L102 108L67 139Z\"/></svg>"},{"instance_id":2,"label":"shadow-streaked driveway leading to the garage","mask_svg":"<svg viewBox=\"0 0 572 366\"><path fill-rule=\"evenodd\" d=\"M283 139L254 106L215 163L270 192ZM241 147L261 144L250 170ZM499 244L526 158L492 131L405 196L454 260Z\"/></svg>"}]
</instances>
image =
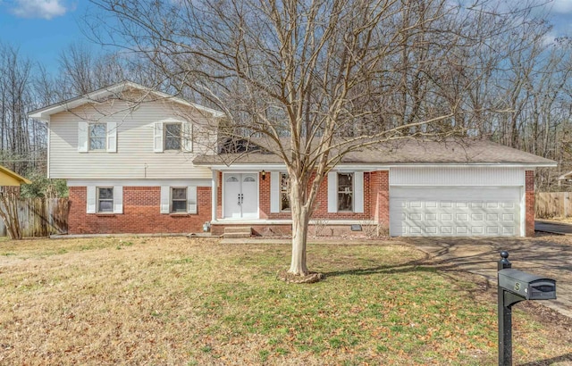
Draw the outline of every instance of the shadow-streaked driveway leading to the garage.
<instances>
[{"instance_id":1,"label":"shadow-streaked driveway leading to the garage","mask_svg":"<svg viewBox=\"0 0 572 366\"><path fill-rule=\"evenodd\" d=\"M542 304L572 318L572 237L537 233L534 238L408 238L442 270L461 269L483 276L496 287L501 250L512 268L556 279L556 300Z\"/></svg>"}]
</instances>

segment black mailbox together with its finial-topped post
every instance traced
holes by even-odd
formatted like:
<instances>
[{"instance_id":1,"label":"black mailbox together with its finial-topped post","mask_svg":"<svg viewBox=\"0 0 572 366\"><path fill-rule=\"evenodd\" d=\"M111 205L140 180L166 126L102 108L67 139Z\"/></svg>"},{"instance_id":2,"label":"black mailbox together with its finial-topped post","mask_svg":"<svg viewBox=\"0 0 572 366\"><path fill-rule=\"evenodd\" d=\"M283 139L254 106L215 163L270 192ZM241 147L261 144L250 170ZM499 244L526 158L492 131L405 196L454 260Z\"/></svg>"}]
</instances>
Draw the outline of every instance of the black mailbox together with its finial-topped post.
<instances>
[{"instance_id":1,"label":"black mailbox together with its finial-topped post","mask_svg":"<svg viewBox=\"0 0 572 366\"><path fill-rule=\"evenodd\" d=\"M512 365L512 305L524 300L556 298L556 281L513 270L509 252L501 252L498 265L499 366Z\"/></svg>"}]
</instances>

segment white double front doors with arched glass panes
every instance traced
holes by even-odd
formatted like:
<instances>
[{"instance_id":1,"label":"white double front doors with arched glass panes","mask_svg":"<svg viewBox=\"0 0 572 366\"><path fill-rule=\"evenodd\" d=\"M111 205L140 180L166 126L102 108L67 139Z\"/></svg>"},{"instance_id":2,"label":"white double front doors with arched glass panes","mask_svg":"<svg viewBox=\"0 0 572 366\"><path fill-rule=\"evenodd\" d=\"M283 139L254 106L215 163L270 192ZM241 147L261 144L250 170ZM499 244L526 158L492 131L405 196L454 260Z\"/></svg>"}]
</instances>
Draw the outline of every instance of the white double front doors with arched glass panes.
<instances>
[{"instance_id":1,"label":"white double front doors with arched glass panes","mask_svg":"<svg viewBox=\"0 0 572 366\"><path fill-rule=\"evenodd\" d=\"M258 218L256 173L224 173L224 218Z\"/></svg>"}]
</instances>

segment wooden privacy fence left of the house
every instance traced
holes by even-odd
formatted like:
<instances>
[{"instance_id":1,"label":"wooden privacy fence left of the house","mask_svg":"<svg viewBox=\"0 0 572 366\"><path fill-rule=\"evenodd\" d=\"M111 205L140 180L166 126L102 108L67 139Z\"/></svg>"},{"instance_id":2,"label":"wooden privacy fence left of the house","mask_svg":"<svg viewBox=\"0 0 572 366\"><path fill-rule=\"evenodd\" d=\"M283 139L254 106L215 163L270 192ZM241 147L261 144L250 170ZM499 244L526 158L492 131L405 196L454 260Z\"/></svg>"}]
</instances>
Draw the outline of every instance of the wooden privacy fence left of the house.
<instances>
[{"instance_id":1,"label":"wooden privacy fence left of the house","mask_svg":"<svg viewBox=\"0 0 572 366\"><path fill-rule=\"evenodd\" d=\"M68 232L67 198L22 198L18 204L23 237L47 237ZM7 235L0 219L0 237Z\"/></svg>"}]
</instances>

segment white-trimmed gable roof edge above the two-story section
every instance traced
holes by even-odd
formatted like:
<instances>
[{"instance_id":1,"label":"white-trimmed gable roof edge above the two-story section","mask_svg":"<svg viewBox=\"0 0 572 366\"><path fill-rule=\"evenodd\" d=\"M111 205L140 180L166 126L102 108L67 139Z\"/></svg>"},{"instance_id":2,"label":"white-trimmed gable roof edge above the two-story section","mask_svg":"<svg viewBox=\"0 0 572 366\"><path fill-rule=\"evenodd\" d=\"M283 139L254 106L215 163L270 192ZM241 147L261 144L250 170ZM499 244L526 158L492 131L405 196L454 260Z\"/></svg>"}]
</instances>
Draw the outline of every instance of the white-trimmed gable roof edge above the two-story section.
<instances>
[{"instance_id":1,"label":"white-trimmed gable roof edge above the two-story section","mask_svg":"<svg viewBox=\"0 0 572 366\"><path fill-rule=\"evenodd\" d=\"M98 89L96 91L90 92L84 96L77 96L75 98L71 98L71 99L65 100L63 102L48 105L48 106L46 106L44 108L40 108L36 111L29 112L28 115L30 118L34 118L34 119L41 120L41 121L48 121L49 116L52 114L55 114L57 112L69 111L72 108L79 107L80 105L83 105L83 104L86 104L89 102L97 102L97 101L105 99L106 97L109 97L109 96L119 96L123 91L132 90L132 89L145 91L146 96L153 95L153 96L156 96L158 99L171 100L171 101L178 103L178 104L183 104L183 105L187 105L187 106L196 108L198 111L206 112L206 113L212 115L213 117L223 117L223 115L224 115L223 112L219 112L219 111L216 111L214 109L207 108L203 105L190 103L189 101L186 101L180 97L171 96L169 94L166 94L166 93L163 93L160 91L156 91L156 90L153 90L153 89L148 88L148 87L144 87L144 86L137 84L137 83L134 83L132 81L122 81L122 82L119 82L119 83L114 84L114 85L109 86L109 87L103 87L103 88Z\"/></svg>"}]
</instances>

